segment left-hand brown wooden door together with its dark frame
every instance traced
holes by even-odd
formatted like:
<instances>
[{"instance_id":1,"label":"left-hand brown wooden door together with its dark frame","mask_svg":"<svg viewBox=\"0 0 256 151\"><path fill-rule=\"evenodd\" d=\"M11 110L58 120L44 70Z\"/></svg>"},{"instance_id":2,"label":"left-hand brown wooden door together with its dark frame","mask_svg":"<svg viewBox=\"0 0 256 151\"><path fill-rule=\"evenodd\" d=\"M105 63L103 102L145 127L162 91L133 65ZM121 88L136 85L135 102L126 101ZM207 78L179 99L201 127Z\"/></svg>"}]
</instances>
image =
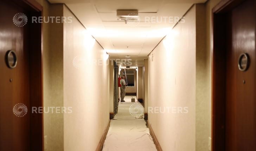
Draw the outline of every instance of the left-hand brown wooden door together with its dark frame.
<instances>
[{"instance_id":1,"label":"left-hand brown wooden door together with its dark frame","mask_svg":"<svg viewBox=\"0 0 256 151\"><path fill-rule=\"evenodd\" d=\"M31 24L42 9L34 0L0 1L1 151L43 150L43 115L31 114L31 106L43 106L41 24Z\"/></svg>"}]
</instances>

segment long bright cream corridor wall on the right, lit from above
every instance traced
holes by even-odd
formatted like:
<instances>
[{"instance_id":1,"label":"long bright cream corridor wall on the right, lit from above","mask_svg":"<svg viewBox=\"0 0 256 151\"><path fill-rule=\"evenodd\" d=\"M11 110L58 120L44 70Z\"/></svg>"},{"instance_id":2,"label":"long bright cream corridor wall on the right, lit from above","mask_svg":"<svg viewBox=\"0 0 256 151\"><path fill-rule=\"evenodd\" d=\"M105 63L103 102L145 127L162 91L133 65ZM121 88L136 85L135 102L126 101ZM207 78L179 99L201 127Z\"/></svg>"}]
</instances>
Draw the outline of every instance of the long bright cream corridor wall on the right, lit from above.
<instances>
[{"instance_id":1,"label":"long bright cream corridor wall on the right, lit from above","mask_svg":"<svg viewBox=\"0 0 256 151\"><path fill-rule=\"evenodd\" d=\"M148 107L188 107L188 113L151 113L164 151L196 149L196 8L149 55Z\"/></svg>"}]
</instances>

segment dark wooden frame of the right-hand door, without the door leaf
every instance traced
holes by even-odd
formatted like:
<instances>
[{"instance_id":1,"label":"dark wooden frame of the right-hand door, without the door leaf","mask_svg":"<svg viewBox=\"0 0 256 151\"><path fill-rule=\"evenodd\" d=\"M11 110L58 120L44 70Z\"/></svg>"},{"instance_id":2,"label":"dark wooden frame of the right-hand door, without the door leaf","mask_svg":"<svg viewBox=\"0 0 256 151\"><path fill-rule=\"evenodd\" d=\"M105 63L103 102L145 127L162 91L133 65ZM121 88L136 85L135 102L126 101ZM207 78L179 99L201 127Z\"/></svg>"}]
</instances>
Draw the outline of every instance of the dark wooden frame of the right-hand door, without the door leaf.
<instances>
[{"instance_id":1,"label":"dark wooden frame of the right-hand door, without the door leaf","mask_svg":"<svg viewBox=\"0 0 256 151\"><path fill-rule=\"evenodd\" d=\"M227 12L245 0L222 0L212 8L212 151L225 151Z\"/></svg>"}]
</instances>

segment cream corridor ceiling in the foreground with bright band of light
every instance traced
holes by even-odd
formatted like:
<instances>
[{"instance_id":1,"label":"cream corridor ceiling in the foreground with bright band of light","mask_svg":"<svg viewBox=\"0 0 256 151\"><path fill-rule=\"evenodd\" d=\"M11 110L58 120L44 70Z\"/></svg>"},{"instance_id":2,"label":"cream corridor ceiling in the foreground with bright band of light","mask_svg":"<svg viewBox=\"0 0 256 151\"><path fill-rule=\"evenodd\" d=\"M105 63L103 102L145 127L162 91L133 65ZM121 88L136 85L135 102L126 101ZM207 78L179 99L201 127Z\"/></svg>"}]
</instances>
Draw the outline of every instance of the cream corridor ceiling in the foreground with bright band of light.
<instances>
[{"instance_id":1,"label":"cream corridor ceiling in the foreground with bright band of light","mask_svg":"<svg viewBox=\"0 0 256 151\"><path fill-rule=\"evenodd\" d=\"M175 25L166 17L182 17L193 4L205 1L49 0L51 3L65 3L110 58L123 59L131 55L137 65ZM126 24L117 20L117 9L137 9L140 18L135 24Z\"/></svg>"}]
</instances>

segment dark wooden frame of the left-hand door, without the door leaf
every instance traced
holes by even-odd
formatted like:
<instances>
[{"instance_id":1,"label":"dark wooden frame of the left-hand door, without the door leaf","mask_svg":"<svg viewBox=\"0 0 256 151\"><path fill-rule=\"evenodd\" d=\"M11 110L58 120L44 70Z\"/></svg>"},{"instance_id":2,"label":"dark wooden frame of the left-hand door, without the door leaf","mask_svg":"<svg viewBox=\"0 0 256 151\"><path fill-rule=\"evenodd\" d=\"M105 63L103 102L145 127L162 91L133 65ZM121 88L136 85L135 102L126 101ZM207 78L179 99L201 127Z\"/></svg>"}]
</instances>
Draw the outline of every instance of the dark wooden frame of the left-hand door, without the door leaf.
<instances>
[{"instance_id":1,"label":"dark wooden frame of the left-hand door, without the door leaf","mask_svg":"<svg viewBox=\"0 0 256 151\"><path fill-rule=\"evenodd\" d=\"M35 0L12 0L30 16L43 16L43 6ZM27 14L26 14L27 15ZM29 23L29 22L28 22ZM43 24L30 23L30 106L43 107ZM43 114L30 113L30 150L44 150Z\"/></svg>"}]
</instances>

